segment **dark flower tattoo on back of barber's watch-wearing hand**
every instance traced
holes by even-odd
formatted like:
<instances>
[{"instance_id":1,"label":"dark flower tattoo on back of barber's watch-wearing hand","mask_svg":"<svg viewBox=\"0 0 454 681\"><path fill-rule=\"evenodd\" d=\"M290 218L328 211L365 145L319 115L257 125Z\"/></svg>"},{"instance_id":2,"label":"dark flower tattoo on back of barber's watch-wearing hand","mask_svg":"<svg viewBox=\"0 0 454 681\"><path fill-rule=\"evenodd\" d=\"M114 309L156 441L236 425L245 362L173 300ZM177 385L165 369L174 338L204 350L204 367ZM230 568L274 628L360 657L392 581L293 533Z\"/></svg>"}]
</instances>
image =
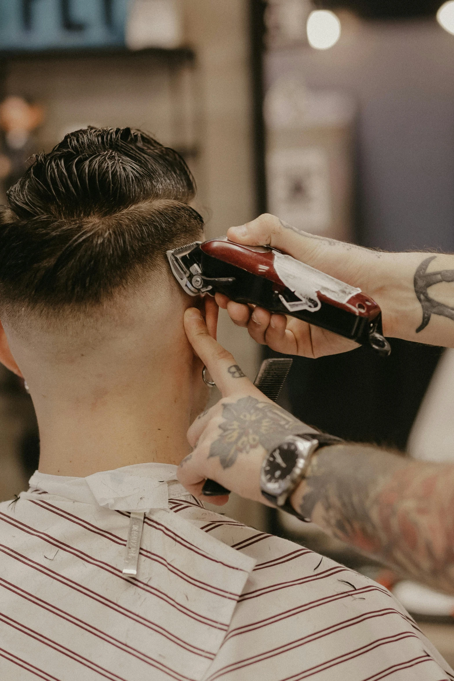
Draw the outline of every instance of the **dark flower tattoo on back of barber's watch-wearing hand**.
<instances>
[{"instance_id":1,"label":"dark flower tattoo on back of barber's watch-wearing hand","mask_svg":"<svg viewBox=\"0 0 454 681\"><path fill-rule=\"evenodd\" d=\"M281 407L249 395L223 404L223 419L221 435L212 443L208 458L218 456L224 469L236 462L238 454L259 446L271 451L287 435L310 430Z\"/></svg>"}]
</instances>

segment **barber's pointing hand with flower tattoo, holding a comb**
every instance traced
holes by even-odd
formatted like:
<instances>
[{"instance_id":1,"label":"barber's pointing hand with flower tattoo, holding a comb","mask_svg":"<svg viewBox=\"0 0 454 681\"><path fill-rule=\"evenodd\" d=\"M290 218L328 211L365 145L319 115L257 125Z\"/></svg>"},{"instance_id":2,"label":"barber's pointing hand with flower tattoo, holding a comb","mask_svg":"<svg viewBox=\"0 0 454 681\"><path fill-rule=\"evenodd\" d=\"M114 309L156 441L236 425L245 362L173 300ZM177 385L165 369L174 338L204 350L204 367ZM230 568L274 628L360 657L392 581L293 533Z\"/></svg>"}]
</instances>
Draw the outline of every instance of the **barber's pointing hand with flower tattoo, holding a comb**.
<instances>
[{"instance_id":1,"label":"barber's pointing hand with flower tattoo, holding a comb","mask_svg":"<svg viewBox=\"0 0 454 681\"><path fill-rule=\"evenodd\" d=\"M184 313L184 330L223 398L189 428L188 441L195 449L178 467L178 479L197 497L210 478L240 496L266 503L259 486L263 458L287 435L314 430L250 382L232 355L210 336L197 309ZM205 498L222 505L228 496Z\"/></svg>"}]
</instances>

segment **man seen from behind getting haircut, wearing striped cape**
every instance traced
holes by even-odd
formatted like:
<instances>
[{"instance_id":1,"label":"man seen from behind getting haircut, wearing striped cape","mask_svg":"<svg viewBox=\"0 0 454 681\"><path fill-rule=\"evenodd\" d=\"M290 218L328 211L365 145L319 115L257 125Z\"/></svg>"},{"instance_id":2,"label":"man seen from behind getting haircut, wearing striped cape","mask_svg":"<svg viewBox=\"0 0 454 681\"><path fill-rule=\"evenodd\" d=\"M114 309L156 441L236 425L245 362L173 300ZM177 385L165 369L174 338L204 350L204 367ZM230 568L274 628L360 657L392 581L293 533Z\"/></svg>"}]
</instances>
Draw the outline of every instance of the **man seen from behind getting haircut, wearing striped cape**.
<instances>
[{"instance_id":1,"label":"man seen from behind getting haircut, wearing striped cape","mask_svg":"<svg viewBox=\"0 0 454 681\"><path fill-rule=\"evenodd\" d=\"M0 505L0 677L454 678L385 588L176 481L208 398L184 311L216 328L165 257L203 238L194 194L182 158L129 128L65 136L8 192L0 359L27 381L41 449Z\"/></svg>"}]
</instances>

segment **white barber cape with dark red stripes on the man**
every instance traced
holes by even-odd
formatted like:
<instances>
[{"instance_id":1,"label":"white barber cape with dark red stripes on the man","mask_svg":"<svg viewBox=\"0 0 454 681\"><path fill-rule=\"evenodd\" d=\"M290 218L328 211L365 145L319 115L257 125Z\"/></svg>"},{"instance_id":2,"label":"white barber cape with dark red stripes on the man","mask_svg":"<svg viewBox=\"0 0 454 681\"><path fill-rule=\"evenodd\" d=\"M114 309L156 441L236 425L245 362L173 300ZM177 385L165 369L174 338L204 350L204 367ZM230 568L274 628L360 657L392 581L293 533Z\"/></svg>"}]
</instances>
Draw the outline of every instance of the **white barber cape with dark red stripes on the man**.
<instances>
[{"instance_id":1,"label":"white barber cape with dark red stripes on the man","mask_svg":"<svg viewBox=\"0 0 454 681\"><path fill-rule=\"evenodd\" d=\"M385 588L204 509L175 478L35 473L0 504L2 681L454 679Z\"/></svg>"}]
</instances>

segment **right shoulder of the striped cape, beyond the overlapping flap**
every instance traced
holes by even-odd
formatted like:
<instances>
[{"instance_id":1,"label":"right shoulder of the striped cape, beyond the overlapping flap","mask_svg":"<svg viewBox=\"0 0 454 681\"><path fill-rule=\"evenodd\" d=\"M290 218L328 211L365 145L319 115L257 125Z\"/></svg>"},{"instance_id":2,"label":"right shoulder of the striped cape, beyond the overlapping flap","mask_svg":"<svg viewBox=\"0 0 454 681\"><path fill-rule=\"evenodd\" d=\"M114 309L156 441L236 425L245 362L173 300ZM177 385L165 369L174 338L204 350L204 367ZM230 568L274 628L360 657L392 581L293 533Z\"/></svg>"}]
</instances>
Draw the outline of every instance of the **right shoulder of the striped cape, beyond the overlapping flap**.
<instances>
[{"instance_id":1,"label":"right shoulder of the striped cape, beyond the overlapping flap","mask_svg":"<svg viewBox=\"0 0 454 681\"><path fill-rule=\"evenodd\" d=\"M174 510L199 530L255 560L210 678L238 658L239 641L248 652L240 655L236 669L247 666L250 678L282 678L282 669L289 670L288 678L303 678L302 664L310 676L340 665L336 678L383 678L377 672L400 669L417 656L432 665L425 669L425 678L440 676L444 662L384 586L304 545L195 502L175 505ZM377 646L381 646L379 659L374 653ZM265 660L263 671L260 663ZM402 678L413 678L412 670Z\"/></svg>"}]
</instances>

